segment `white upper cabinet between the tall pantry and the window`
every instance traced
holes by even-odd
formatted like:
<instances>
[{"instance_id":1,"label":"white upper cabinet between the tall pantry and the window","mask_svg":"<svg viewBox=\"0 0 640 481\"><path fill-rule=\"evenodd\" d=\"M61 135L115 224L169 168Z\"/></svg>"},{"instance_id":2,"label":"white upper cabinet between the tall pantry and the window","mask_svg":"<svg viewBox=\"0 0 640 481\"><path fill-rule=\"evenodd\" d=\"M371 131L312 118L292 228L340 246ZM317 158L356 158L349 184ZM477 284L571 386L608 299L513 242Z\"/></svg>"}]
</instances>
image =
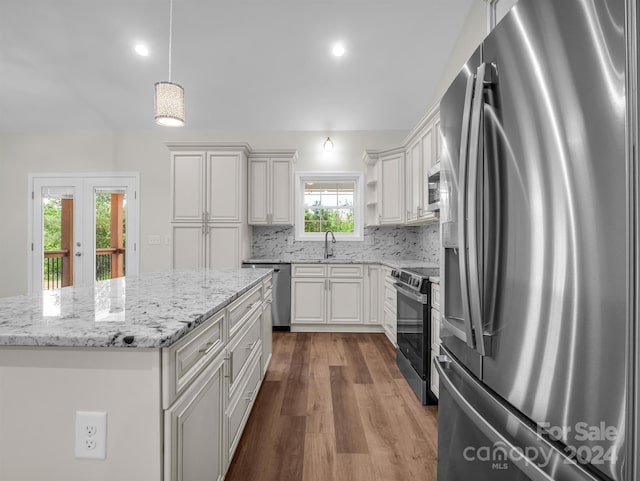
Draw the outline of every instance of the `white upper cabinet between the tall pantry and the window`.
<instances>
[{"instance_id":1,"label":"white upper cabinet between the tall pantry and the window","mask_svg":"<svg viewBox=\"0 0 640 481\"><path fill-rule=\"evenodd\" d=\"M295 150L256 151L249 156L249 224L293 225Z\"/></svg>"}]
</instances>

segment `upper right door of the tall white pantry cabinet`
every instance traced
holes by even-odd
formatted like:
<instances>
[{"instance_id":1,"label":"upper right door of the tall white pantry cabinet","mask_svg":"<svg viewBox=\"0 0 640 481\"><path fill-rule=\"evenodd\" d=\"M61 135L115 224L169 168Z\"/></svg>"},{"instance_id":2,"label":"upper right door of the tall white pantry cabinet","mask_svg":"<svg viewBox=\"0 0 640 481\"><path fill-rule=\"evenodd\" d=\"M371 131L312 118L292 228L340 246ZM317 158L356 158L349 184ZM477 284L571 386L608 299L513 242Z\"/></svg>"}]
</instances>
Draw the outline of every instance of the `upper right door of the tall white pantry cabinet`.
<instances>
[{"instance_id":1,"label":"upper right door of the tall white pantry cabinet","mask_svg":"<svg viewBox=\"0 0 640 481\"><path fill-rule=\"evenodd\" d=\"M208 153L206 213L209 222L242 220L243 161L244 155L240 153Z\"/></svg>"}]
</instances>

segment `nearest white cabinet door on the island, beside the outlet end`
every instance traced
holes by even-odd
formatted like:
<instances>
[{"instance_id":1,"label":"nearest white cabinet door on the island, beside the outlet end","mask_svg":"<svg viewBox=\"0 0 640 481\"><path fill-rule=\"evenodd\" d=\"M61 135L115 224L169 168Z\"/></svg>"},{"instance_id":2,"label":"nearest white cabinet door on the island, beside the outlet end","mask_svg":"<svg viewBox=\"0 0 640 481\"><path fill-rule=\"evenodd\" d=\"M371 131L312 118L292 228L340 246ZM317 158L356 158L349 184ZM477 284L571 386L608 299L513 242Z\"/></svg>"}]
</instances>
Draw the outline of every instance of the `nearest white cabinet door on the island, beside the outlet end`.
<instances>
[{"instance_id":1,"label":"nearest white cabinet door on the island, beside the outlet end","mask_svg":"<svg viewBox=\"0 0 640 481\"><path fill-rule=\"evenodd\" d=\"M165 479L224 478L224 354L165 411Z\"/></svg>"}]
</instances>

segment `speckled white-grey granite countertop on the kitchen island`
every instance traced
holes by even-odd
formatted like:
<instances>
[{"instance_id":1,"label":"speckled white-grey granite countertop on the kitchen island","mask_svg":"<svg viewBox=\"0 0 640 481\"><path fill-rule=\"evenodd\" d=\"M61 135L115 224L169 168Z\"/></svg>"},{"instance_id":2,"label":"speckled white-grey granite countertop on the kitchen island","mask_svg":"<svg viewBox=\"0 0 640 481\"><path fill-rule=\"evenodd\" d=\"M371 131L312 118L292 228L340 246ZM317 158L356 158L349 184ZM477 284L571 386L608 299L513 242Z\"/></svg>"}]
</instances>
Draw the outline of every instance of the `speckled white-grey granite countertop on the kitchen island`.
<instances>
[{"instance_id":1,"label":"speckled white-grey granite countertop on the kitchen island","mask_svg":"<svg viewBox=\"0 0 640 481\"><path fill-rule=\"evenodd\" d=\"M0 346L167 347L271 272L154 272L0 298Z\"/></svg>"}]
</instances>

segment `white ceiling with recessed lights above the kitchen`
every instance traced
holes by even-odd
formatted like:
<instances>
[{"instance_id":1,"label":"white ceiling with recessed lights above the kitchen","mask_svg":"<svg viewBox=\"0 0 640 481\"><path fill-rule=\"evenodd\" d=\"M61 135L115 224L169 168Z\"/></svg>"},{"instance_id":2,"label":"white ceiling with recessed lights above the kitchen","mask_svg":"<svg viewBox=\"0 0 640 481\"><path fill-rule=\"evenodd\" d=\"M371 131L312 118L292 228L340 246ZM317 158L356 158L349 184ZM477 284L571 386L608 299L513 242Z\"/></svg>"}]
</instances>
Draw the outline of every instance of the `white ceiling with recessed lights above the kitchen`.
<instances>
[{"instance_id":1,"label":"white ceiling with recessed lights above the kitchen","mask_svg":"<svg viewBox=\"0 0 640 481\"><path fill-rule=\"evenodd\" d=\"M472 1L174 0L185 128L410 129ZM169 0L1 0L0 131L162 129L168 22Z\"/></svg>"}]
</instances>

